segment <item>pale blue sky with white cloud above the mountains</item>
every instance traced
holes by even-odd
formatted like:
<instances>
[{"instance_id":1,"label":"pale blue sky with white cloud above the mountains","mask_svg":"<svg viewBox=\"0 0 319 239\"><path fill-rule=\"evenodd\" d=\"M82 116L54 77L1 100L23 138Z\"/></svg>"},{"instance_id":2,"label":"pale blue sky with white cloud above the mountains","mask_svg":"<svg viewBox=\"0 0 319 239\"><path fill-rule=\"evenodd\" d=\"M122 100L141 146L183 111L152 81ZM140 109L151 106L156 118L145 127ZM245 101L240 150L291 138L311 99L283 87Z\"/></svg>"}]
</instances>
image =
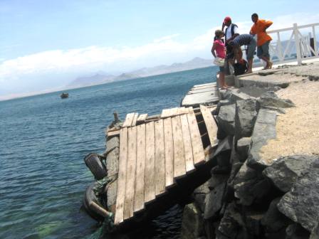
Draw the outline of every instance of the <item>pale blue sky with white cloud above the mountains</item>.
<instances>
[{"instance_id":1,"label":"pale blue sky with white cloud above the mountains","mask_svg":"<svg viewBox=\"0 0 319 239\"><path fill-rule=\"evenodd\" d=\"M249 33L254 12L273 21L271 31L319 23L318 9L313 0L0 0L0 99L95 73L212 58L225 16Z\"/></svg>"}]
</instances>

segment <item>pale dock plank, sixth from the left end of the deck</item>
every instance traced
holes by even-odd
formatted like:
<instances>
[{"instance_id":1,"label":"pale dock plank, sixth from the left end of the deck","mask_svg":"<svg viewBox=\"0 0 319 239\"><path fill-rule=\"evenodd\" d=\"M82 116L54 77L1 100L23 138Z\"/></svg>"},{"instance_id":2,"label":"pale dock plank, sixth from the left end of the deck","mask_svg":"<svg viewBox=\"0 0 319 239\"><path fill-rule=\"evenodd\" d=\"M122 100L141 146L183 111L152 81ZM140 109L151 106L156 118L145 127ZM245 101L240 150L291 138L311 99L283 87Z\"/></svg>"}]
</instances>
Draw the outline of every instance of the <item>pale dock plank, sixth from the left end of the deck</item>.
<instances>
[{"instance_id":1,"label":"pale dock plank, sixth from the left end of the deck","mask_svg":"<svg viewBox=\"0 0 319 239\"><path fill-rule=\"evenodd\" d=\"M165 145L165 186L174 184L174 147L172 119L164 119L164 145Z\"/></svg>"}]
</instances>

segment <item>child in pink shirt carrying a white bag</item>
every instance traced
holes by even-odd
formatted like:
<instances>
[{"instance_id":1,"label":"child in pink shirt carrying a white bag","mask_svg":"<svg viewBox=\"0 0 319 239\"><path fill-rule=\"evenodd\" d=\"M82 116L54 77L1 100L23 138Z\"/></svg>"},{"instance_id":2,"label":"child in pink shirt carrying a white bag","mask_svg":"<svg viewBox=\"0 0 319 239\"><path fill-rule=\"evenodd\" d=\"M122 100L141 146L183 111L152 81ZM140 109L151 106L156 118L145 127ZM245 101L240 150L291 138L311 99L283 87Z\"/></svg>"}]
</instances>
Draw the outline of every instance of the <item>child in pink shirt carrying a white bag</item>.
<instances>
[{"instance_id":1,"label":"child in pink shirt carrying a white bag","mask_svg":"<svg viewBox=\"0 0 319 239\"><path fill-rule=\"evenodd\" d=\"M225 51L225 44L223 41L221 41L221 38L224 36L224 32L221 30L215 31L215 38L214 38L214 44L211 48L211 54L214 55L214 58L222 58L225 59L226 51ZM225 84L225 67L219 66L219 87L221 89L226 90L228 85Z\"/></svg>"}]
</instances>

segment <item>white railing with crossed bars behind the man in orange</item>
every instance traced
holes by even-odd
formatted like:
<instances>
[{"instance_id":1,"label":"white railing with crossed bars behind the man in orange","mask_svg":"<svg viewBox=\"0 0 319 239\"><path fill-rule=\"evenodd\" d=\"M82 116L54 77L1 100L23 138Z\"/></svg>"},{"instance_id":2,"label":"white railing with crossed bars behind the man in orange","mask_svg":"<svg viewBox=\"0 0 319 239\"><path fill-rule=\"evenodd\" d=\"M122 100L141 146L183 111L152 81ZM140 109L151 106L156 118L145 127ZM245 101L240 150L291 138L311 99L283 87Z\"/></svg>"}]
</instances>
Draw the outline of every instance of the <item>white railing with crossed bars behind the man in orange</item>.
<instances>
[{"instance_id":1,"label":"white railing with crossed bars behind the man in orange","mask_svg":"<svg viewBox=\"0 0 319 239\"><path fill-rule=\"evenodd\" d=\"M303 26L294 23L291 28L267 31L273 38L269 49L272 60L278 63L297 60L298 65L301 65L303 59L319 58L315 33L315 28L318 26L319 23ZM306 31L308 33L305 33ZM313 46L310 46L310 41L313 41L311 44Z\"/></svg>"}]
</instances>

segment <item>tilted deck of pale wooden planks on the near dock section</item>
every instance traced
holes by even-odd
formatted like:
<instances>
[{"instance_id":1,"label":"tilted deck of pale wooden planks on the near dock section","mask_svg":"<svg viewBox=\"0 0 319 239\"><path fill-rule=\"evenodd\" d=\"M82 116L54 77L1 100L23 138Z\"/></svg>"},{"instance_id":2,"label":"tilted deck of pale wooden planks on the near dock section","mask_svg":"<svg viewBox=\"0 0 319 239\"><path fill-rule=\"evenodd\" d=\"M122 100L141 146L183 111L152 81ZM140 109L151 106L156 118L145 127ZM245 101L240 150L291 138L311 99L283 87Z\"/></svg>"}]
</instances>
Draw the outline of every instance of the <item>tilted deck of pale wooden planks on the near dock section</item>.
<instances>
[{"instance_id":1,"label":"tilted deck of pale wooden planks on the near dock section","mask_svg":"<svg viewBox=\"0 0 319 239\"><path fill-rule=\"evenodd\" d=\"M209 108L201 106L206 134L215 147L217 126ZM115 225L157 201L179 179L205 163L202 135L192 107L162 110L160 117L130 113L120 133ZM112 133L112 132L110 132ZM115 132L113 132L115 134Z\"/></svg>"}]
</instances>

